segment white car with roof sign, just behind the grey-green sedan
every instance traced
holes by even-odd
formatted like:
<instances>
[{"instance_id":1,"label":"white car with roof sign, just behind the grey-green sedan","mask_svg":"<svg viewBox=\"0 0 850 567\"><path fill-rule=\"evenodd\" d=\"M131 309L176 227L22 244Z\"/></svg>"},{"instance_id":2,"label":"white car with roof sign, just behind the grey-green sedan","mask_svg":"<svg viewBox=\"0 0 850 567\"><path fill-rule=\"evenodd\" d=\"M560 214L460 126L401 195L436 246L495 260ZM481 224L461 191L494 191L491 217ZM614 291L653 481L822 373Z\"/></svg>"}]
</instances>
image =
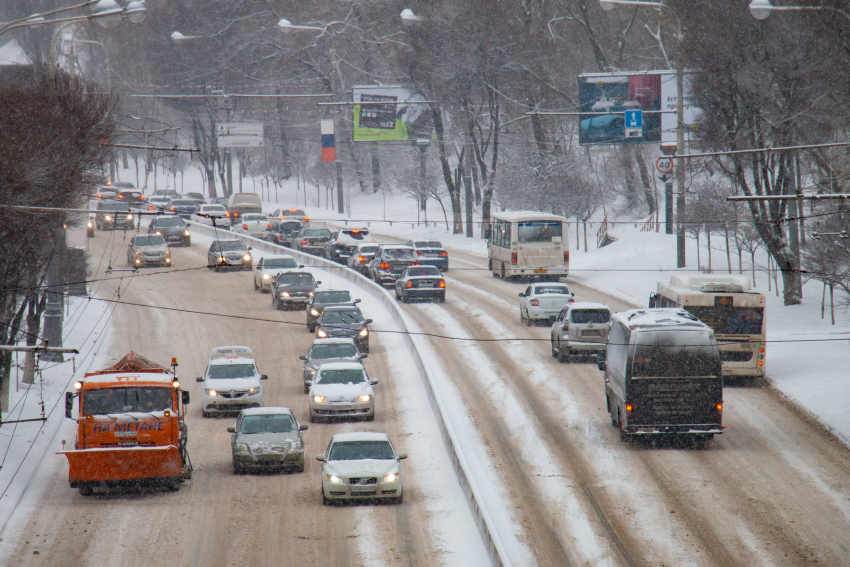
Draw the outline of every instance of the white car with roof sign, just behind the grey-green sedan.
<instances>
[{"instance_id":1,"label":"white car with roof sign, just behind the grey-green sedan","mask_svg":"<svg viewBox=\"0 0 850 567\"><path fill-rule=\"evenodd\" d=\"M196 379L204 385L201 396L203 416L262 407L262 381L268 378L257 370L254 352L249 347L223 346L212 349L206 373Z\"/></svg>"}]
</instances>

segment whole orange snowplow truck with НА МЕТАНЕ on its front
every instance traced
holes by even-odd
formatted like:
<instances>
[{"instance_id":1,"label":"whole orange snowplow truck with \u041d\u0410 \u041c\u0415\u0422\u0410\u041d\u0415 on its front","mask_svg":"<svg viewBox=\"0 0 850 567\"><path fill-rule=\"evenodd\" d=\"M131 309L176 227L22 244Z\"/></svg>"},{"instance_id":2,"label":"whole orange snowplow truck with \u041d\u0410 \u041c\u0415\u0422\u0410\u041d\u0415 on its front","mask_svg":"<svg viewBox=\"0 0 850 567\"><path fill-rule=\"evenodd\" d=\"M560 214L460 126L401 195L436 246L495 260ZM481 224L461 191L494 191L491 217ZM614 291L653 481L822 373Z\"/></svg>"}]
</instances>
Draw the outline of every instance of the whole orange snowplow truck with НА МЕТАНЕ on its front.
<instances>
[{"instance_id":1,"label":"whole orange snowplow truck with \u041d\u0410 \u041c\u0415\u0422\u0410\u041d\u0415 on its front","mask_svg":"<svg viewBox=\"0 0 850 567\"><path fill-rule=\"evenodd\" d=\"M184 422L189 392L174 371L130 352L74 388L65 394L65 416L73 418L78 398L77 442L73 451L58 453L68 457L71 488L84 496L95 488L140 485L178 490L191 478Z\"/></svg>"}]
</instances>

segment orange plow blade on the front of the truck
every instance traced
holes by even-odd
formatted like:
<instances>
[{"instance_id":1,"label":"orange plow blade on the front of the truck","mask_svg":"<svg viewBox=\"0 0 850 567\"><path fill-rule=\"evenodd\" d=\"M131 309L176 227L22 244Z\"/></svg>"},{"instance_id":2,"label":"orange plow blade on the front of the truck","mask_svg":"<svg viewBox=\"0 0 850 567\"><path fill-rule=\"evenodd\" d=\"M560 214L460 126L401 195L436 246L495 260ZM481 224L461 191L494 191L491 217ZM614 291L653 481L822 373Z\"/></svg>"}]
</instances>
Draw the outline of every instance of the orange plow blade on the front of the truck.
<instances>
[{"instance_id":1,"label":"orange plow blade on the front of the truck","mask_svg":"<svg viewBox=\"0 0 850 567\"><path fill-rule=\"evenodd\" d=\"M174 479L183 467L177 447L110 447L60 451L68 457L68 480L79 483Z\"/></svg>"}]
</instances>

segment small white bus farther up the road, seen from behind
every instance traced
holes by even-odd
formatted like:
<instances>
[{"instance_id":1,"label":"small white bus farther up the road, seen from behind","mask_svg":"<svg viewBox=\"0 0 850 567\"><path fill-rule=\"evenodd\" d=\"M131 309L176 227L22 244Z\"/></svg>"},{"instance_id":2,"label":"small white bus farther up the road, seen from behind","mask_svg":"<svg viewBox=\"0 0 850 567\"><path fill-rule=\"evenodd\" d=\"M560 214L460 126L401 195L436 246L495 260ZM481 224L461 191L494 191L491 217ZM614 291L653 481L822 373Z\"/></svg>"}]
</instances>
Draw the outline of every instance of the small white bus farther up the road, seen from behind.
<instances>
[{"instance_id":1,"label":"small white bus farther up the road, seen from behind","mask_svg":"<svg viewBox=\"0 0 850 567\"><path fill-rule=\"evenodd\" d=\"M558 281L570 267L569 221L548 213L518 211L492 215L485 232L489 269L496 277L539 277Z\"/></svg>"}]
</instances>

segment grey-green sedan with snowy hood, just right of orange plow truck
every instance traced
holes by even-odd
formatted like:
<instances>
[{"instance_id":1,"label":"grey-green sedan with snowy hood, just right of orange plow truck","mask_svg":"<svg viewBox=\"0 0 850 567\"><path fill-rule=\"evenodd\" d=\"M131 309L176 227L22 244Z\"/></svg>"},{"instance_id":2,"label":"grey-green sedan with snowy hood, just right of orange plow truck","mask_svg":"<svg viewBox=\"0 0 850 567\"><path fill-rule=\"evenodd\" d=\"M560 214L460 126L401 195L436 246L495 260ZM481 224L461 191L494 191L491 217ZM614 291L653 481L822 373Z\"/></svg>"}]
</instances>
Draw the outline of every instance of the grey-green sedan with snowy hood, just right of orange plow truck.
<instances>
[{"instance_id":1,"label":"grey-green sedan with snowy hood, just right of orange plow truck","mask_svg":"<svg viewBox=\"0 0 850 567\"><path fill-rule=\"evenodd\" d=\"M299 425L289 408L244 409L228 427L233 472L271 468L304 472L306 425Z\"/></svg>"}]
</instances>

